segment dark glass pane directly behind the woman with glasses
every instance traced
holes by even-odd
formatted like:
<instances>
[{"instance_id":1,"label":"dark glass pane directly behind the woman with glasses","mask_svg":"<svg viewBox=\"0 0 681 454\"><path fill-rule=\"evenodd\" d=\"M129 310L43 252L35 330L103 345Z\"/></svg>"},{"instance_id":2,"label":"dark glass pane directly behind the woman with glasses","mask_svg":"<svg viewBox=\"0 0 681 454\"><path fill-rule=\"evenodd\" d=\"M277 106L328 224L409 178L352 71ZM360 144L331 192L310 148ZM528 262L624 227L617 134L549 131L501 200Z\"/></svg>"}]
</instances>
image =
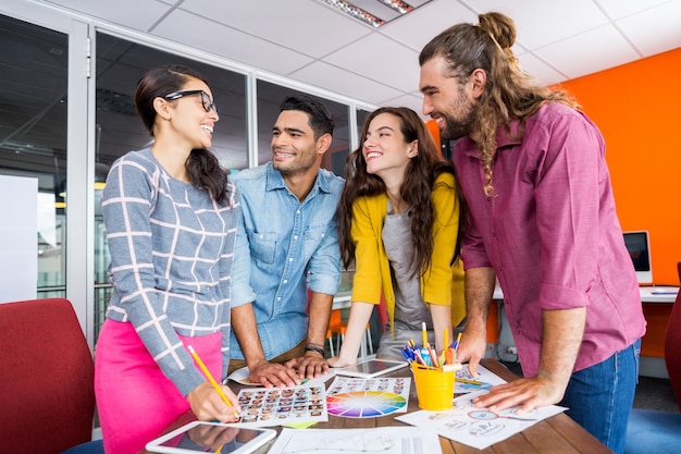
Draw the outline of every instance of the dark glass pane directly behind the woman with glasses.
<instances>
[{"instance_id":1,"label":"dark glass pane directly behind the woman with glasses","mask_svg":"<svg viewBox=\"0 0 681 454\"><path fill-rule=\"evenodd\" d=\"M151 144L151 136L135 110L134 93L143 74L162 64L184 64L199 71L208 79L220 113L211 150L226 169L248 167L245 75L99 33L96 64L96 180L103 182L110 165L119 157ZM95 187L95 339L111 296L107 275L110 256L101 216L101 187Z\"/></svg>"}]
</instances>

